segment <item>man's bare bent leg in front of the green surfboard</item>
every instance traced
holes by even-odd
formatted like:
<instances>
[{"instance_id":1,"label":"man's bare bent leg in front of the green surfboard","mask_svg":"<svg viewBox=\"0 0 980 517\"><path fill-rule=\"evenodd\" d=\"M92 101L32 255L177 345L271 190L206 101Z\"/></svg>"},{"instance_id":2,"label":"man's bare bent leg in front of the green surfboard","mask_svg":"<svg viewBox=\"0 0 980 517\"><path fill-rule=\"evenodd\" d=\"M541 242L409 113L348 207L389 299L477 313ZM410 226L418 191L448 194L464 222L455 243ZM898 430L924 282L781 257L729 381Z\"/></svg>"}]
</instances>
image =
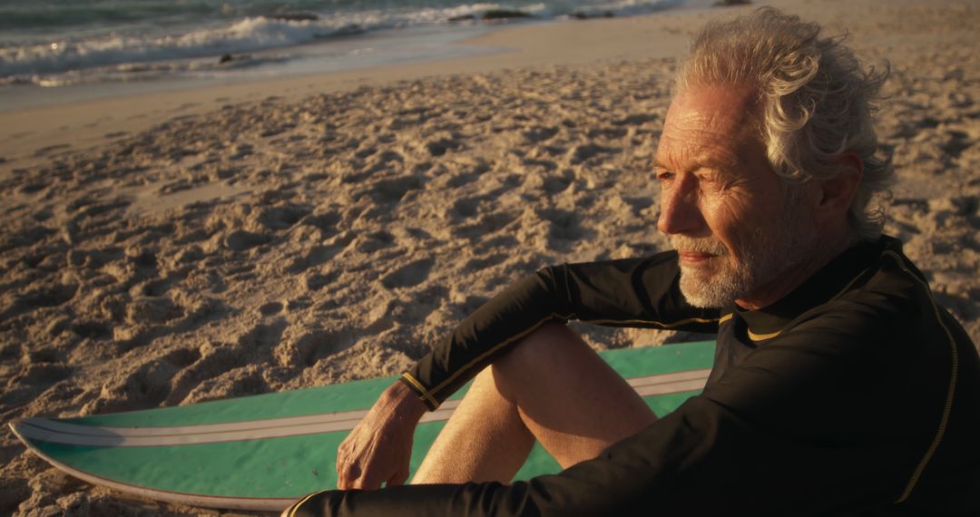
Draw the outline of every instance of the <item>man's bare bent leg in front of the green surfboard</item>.
<instances>
[{"instance_id":1,"label":"man's bare bent leg in front of the green surfboard","mask_svg":"<svg viewBox=\"0 0 980 517\"><path fill-rule=\"evenodd\" d=\"M569 467L656 420L575 333L545 325L476 376L413 483L508 482L535 439Z\"/></svg>"}]
</instances>

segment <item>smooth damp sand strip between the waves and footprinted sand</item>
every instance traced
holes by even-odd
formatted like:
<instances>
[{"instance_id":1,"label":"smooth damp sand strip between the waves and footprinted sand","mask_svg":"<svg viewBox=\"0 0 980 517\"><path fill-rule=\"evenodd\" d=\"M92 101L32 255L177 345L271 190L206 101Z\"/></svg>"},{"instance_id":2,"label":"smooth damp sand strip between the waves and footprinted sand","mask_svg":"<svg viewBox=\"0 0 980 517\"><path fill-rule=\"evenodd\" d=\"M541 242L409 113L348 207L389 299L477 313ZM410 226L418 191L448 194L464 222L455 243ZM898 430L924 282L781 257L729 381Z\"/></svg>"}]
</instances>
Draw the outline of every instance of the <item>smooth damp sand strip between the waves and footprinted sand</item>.
<instances>
[{"instance_id":1,"label":"smooth damp sand strip between the waves and footprinted sand","mask_svg":"<svg viewBox=\"0 0 980 517\"><path fill-rule=\"evenodd\" d=\"M233 83L184 87L153 81L149 92L128 92L98 98L0 111L0 178L62 153L90 149L146 130L169 118L200 115L221 106L260 101L274 96L296 100L306 96L377 86L429 76L482 73L549 65L582 66L610 60L672 57L683 53L687 34L669 21L711 15L706 0L659 13L628 18L547 21L480 27L484 33L456 41L465 57L417 59L404 63L250 79ZM745 8L722 8L731 11ZM659 43L638 45L651 24L661 23ZM468 48L467 48L468 47ZM188 83L193 84L193 82ZM92 87L97 87L93 85ZM109 84L107 87L125 89ZM161 91L153 91L159 87ZM52 90L57 94L57 90ZM116 114L125 114L120 118Z\"/></svg>"}]
</instances>

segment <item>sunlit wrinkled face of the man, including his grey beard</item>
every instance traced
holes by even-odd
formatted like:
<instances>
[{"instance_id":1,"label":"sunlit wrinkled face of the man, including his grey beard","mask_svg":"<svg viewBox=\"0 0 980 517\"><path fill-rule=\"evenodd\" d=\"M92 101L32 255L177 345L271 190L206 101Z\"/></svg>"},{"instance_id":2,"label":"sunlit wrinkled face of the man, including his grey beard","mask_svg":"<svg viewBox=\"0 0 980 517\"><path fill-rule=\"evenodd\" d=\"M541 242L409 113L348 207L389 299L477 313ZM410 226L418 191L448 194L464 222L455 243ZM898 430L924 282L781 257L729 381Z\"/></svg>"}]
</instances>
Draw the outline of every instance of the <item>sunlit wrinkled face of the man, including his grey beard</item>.
<instances>
[{"instance_id":1,"label":"sunlit wrinkled face of the man, including his grey beard","mask_svg":"<svg viewBox=\"0 0 980 517\"><path fill-rule=\"evenodd\" d=\"M809 252L802 188L769 167L752 127L754 95L732 85L693 88L663 122L658 228L679 254L692 305L759 298Z\"/></svg>"}]
</instances>

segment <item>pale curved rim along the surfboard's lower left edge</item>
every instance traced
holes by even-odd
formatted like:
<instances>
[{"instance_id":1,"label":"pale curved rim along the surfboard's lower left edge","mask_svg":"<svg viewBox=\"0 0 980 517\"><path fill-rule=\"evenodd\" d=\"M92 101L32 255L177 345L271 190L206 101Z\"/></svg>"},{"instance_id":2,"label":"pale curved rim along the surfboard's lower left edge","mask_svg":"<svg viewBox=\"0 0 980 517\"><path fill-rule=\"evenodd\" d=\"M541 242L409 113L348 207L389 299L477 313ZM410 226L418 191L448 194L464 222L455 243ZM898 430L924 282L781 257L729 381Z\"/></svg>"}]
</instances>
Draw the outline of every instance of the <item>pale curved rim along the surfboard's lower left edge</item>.
<instances>
[{"instance_id":1,"label":"pale curved rim along the surfboard's lower left edge","mask_svg":"<svg viewBox=\"0 0 980 517\"><path fill-rule=\"evenodd\" d=\"M14 424L11 423L11 427ZM63 463L34 447L29 440L25 440L18 429L14 429L14 434L24 442L32 452L43 458L48 463L58 467L66 473L82 481L99 485L108 489L116 490L124 494L134 494L153 500L174 502L177 504L187 504L191 506L203 506L206 508L225 508L231 510L261 510L261 511L282 511L292 504L298 497L229 497L224 495L206 494L186 494L180 492L165 491L160 489L150 489L138 485L122 483L102 476L78 470L77 468Z\"/></svg>"}]
</instances>

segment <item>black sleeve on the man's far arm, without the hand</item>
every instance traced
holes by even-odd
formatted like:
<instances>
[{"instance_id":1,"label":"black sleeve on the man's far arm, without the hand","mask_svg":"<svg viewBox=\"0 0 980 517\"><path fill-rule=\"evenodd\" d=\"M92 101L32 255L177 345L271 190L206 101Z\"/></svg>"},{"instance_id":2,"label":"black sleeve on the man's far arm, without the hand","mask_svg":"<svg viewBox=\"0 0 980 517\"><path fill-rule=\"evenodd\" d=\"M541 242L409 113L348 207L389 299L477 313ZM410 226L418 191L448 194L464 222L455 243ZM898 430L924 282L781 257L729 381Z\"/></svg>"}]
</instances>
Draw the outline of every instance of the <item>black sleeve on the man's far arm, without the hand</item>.
<instances>
[{"instance_id":1,"label":"black sleeve on the man's far arm, without the hand","mask_svg":"<svg viewBox=\"0 0 980 517\"><path fill-rule=\"evenodd\" d=\"M717 309L688 305L673 252L564 264L525 277L483 305L402 376L435 409L520 338L549 321L717 331Z\"/></svg>"}]
</instances>

